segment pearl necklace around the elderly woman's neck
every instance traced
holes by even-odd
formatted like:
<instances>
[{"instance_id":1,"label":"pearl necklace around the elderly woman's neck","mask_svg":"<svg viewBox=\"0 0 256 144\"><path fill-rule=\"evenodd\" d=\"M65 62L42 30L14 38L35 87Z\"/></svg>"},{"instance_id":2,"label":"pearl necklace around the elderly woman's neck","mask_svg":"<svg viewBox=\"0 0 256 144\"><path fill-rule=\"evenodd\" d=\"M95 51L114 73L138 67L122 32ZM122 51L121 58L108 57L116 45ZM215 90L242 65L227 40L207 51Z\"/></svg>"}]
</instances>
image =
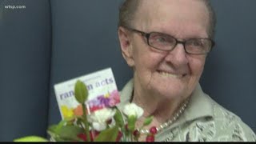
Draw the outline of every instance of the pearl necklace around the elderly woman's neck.
<instances>
[{"instance_id":1,"label":"pearl necklace around the elderly woman's neck","mask_svg":"<svg viewBox=\"0 0 256 144\"><path fill-rule=\"evenodd\" d=\"M182 113L184 112L184 110L186 109L187 104L189 103L190 98L188 98L186 100L186 102L184 102L183 106L180 108L180 110L178 110L178 112L176 114L174 114L174 117L171 118L169 121L163 123L162 125L160 125L159 127L157 127L158 131L161 131L163 129L165 129L166 127L170 126L171 124L173 124L178 118L179 116L182 115ZM144 130L144 129L137 129L140 134L150 134L150 130Z\"/></svg>"}]
</instances>

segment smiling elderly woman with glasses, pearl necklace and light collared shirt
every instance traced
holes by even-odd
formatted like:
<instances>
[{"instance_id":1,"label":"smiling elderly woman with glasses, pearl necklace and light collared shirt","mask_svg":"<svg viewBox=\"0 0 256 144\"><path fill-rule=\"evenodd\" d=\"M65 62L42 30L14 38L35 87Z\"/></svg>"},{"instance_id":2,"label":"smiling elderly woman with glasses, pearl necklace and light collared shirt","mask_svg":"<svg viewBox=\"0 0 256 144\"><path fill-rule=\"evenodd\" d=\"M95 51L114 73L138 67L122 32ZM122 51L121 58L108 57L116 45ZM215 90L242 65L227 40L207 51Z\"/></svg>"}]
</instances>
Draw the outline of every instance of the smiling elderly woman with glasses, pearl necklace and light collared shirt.
<instances>
[{"instance_id":1,"label":"smiling elderly woman with glasses, pearl necklace and light collared shirt","mask_svg":"<svg viewBox=\"0 0 256 144\"><path fill-rule=\"evenodd\" d=\"M143 108L137 127L154 116L150 126L139 130L144 138L157 130L155 141L256 141L250 127L198 83L214 46L214 22L207 0L122 4L118 38L134 78L122 90L120 108L128 102Z\"/></svg>"}]
</instances>

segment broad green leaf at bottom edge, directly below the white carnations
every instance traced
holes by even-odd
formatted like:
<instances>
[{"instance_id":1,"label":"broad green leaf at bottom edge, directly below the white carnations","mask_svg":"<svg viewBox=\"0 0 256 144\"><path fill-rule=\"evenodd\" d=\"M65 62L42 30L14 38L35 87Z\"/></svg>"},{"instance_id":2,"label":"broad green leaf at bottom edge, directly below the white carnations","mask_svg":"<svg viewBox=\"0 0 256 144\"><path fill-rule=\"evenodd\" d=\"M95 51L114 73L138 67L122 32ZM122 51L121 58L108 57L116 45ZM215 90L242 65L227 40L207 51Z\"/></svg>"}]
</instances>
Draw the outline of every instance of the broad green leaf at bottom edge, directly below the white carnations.
<instances>
[{"instance_id":1,"label":"broad green leaf at bottom edge, directly below the white carnations","mask_svg":"<svg viewBox=\"0 0 256 144\"><path fill-rule=\"evenodd\" d=\"M102 130L94 139L94 142L115 142L118 138L118 126Z\"/></svg>"}]
</instances>

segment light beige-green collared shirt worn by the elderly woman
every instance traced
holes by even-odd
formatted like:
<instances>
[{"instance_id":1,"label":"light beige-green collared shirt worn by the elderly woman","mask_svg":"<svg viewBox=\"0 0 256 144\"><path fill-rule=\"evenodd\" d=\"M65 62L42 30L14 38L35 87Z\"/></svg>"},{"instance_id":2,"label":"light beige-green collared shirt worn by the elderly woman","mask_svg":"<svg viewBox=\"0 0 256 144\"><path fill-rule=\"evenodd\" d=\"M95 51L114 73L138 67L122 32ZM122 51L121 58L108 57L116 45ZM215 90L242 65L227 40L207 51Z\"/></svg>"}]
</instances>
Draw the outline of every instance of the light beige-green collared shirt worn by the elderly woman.
<instances>
[{"instance_id":1,"label":"light beige-green collared shirt worn by the elderly woman","mask_svg":"<svg viewBox=\"0 0 256 144\"><path fill-rule=\"evenodd\" d=\"M133 79L121 91L118 108L130 102ZM184 113L155 136L156 142L256 142L254 131L229 110L214 102L198 84Z\"/></svg>"}]
</instances>

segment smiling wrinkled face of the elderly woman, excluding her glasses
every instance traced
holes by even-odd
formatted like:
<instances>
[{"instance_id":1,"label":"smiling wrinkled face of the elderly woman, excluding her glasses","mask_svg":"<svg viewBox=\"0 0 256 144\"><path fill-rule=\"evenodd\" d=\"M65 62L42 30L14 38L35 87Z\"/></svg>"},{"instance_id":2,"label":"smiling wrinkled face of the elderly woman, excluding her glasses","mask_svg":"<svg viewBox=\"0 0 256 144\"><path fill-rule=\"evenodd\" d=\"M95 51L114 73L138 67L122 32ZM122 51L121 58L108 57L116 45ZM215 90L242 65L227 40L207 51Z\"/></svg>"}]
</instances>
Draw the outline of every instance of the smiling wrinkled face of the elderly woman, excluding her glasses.
<instances>
[{"instance_id":1,"label":"smiling wrinkled face of the elderly woman, excluding her glasses","mask_svg":"<svg viewBox=\"0 0 256 144\"><path fill-rule=\"evenodd\" d=\"M142 1L134 29L170 34L181 41L207 38L206 12L206 6L200 1ZM206 60L206 55L186 54L181 44L168 52L155 50L138 33L130 34L129 49L134 86L170 99L188 97L193 92Z\"/></svg>"}]
</instances>

